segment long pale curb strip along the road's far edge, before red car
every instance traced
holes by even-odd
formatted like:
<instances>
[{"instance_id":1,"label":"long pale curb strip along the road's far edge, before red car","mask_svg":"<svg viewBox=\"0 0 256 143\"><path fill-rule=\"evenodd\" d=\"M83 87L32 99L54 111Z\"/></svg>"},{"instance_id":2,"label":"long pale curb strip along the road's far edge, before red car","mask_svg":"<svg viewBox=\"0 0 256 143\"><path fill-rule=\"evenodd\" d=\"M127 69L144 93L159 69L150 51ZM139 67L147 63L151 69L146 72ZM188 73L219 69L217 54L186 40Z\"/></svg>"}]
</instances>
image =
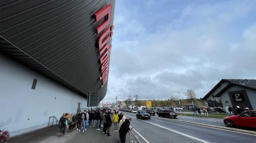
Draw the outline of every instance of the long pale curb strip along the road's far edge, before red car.
<instances>
[{"instance_id":1,"label":"long pale curb strip along the road's far edge, before red car","mask_svg":"<svg viewBox=\"0 0 256 143\"><path fill-rule=\"evenodd\" d=\"M160 118L160 117L155 117L155 118ZM217 128L217 129L223 129L223 130L232 130L232 131L237 131L237 132L241 132L241 133L247 133L247 134L256 135L256 131L251 131L251 130L235 129L235 128L229 128L229 127L225 127L225 126L208 125L208 124L203 124L203 123L198 123L198 122L174 120L174 119L170 119L170 118L168 118L167 120L175 121L175 122L184 122L184 123L200 125L200 126L208 126L208 127Z\"/></svg>"}]
</instances>

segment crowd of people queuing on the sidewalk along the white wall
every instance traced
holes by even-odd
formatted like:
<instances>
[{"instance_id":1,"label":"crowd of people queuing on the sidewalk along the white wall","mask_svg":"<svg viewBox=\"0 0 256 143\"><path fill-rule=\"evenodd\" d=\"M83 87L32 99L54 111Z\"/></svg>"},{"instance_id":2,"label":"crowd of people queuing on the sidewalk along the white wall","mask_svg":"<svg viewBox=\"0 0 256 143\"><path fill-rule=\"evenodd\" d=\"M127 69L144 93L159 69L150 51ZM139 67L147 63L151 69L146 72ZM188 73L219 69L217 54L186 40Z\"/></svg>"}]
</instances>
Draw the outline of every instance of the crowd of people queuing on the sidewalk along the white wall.
<instances>
[{"instance_id":1,"label":"crowd of people queuing on the sidewalk along the white wall","mask_svg":"<svg viewBox=\"0 0 256 143\"><path fill-rule=\"evenodd\" d=\"M77 126L76 130L82 132L85 132L88 128L96 128L96 130L102 128L104 135L111 136L110 129L113 124L114 132L118 131L121 143L125 143L127 132L132 130L130 127L132 119L126 119L122 112L118 114L118 111L112 109L84 110L84 112L79 111L79 113L74 114L72 118L71 116L71 114L63 113L59 119L59 136L64 136L65 130L68 130L71 126Z\"/></svg>"}]
</instances>

